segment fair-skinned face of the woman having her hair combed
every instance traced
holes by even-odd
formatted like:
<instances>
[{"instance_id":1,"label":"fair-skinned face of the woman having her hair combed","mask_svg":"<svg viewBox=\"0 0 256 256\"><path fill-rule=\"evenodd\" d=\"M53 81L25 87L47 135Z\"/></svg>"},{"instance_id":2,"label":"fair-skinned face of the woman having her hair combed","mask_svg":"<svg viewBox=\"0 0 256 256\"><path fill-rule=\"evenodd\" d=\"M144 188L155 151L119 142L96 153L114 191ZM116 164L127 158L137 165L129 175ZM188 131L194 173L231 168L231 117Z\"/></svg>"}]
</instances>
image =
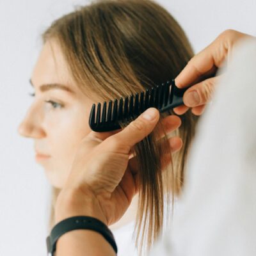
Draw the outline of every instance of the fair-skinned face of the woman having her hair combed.
<instances>
[{"instance_id":1,"label":"fair-skinned face of the woman having her hair combed","mask_svg":"<svg viewBox=\"0 0 256 256\"><path fill-rule=\"evenodd\" d=\"M93 102L75 86L58 45L53 41L51 45L45 43L33 70L35 100L19 125L19 134L34 139L35 152L49 155L36 161L52 186L63 188L79 142L92 131L88 118Z\"/></svg>"}]
</instances>

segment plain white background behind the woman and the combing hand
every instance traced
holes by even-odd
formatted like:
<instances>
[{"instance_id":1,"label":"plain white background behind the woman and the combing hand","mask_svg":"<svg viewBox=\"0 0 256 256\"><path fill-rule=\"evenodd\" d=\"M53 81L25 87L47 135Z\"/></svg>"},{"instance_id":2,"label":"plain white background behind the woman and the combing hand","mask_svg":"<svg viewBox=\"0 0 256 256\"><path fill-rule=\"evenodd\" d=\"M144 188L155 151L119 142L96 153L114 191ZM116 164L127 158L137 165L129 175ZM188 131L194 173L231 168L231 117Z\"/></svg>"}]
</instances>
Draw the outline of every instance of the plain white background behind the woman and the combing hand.
<instances>
[{"instance_id":1,"label":"plain white background behind the woman and the combing hand","mask_svg":"<svg viewBox=\"0 0 256 256\"><path fill-rule=\"evenodd\" d=\"M232 28L256 36L256 1L159 0L186 31L195 52ZM33 141L17 127L33 92L29 78L52 20L88 1L0 1L0 255L45 256L49 184Z\"/></svg>"}]
</instances>

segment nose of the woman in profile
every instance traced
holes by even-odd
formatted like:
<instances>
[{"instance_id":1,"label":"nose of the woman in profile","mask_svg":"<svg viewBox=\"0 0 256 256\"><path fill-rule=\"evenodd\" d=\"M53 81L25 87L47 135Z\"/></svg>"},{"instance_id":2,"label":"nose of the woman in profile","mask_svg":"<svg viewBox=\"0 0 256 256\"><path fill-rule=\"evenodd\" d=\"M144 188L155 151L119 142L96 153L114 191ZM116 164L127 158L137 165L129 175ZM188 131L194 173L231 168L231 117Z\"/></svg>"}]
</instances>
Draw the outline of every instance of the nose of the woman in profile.
<instances>
[{"instance_id":1,"label":"nose of the woman in profile","mask_svg":"<svg viewBox=\"0 0 256 256\"><path fill-rule=\"evenodd\" d=\"M45 131L42 128L39 113L36 115L36 113L33 113L33 111L29 109L28 113L26 113L26 116L19 124L18 132L24 137L44 138Z\"/></svg>"}]
</instances>

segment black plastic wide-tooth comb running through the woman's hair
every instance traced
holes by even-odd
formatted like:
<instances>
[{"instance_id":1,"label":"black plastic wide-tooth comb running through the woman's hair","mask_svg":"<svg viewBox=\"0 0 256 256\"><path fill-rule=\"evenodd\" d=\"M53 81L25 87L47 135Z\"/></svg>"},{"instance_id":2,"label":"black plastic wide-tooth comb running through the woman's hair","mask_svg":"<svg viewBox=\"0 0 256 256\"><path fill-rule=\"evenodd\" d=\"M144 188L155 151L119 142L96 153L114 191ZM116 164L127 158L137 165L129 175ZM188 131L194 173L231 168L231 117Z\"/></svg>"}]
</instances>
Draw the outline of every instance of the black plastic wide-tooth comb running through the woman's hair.
<instances>
[{"instance_id":1,"label":"black plastic wide-tooth comb running through the woman's hair","mask_svg":"<svg viewBox=\"0 0 256 256\"><path fill-rule=\"evenodd\" d=\"M120 129L121 127L118 122L131 121L148 108L157 108L162 113L184 104L182 97L187 89L178 88L173 79L172 83L167 81L160 86L157 85L150 90L147 89L145 92L141 92L140 95L136 93L130 97L125 97L125 99L115 99L114 103L112 100L109 100L108 108L107 102L105 101L102 111L100 103L98 103L97 111L95 104L93 104L90 112L89 125L96 132ZM97 112L96 116L95 112Z\"/></svg>"}]
</instances>

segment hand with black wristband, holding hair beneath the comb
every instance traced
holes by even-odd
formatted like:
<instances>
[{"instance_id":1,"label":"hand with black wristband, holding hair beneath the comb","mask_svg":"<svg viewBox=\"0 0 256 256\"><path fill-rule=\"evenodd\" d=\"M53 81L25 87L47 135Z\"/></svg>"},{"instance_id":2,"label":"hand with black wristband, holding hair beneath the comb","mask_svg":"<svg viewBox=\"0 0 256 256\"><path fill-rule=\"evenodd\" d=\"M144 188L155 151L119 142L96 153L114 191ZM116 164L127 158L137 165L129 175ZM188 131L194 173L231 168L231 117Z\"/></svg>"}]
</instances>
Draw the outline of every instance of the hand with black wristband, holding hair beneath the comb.
<instances>
[{"instance_id":1,"label":"hand with black wristband, holding hair beneath the comb","mask_svg":"<svg viewBox=\"0 0 256 256\"><path fill-rule=\"evenodd\" d=\"M144 116L148 113L151 120ZM90 132L81 141L67 183L58 196L56 222L77 214L94 216L107 225L119 220L139 186L131 149L152 132L158 120L159 111L149 108L115 134ZM166 132L171 132L181 121L179 116L171 115L163 124ZM179 137L170 138L169 143L172 152L182 147Z\"/></svg>"}]
</instances>

